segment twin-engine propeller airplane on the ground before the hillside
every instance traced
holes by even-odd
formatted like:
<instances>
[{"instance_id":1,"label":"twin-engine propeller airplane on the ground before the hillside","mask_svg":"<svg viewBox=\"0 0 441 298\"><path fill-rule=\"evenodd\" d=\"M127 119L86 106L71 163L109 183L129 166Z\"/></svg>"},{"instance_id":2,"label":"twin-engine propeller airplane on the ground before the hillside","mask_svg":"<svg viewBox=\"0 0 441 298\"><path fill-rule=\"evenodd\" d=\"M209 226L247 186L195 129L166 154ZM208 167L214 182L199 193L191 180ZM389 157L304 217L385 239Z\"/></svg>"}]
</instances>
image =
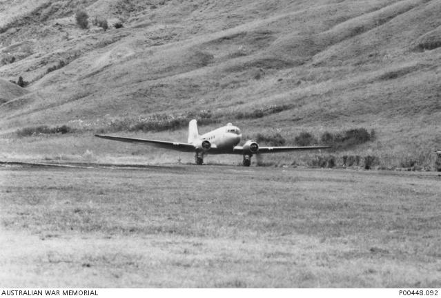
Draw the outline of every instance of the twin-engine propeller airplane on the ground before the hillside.
<instances>
[{"instance_id":1,"label":"twin-engine propeller airplane on the ground before the hillside","mask_svg":"<svg viewBox=\"0 0 441 298\"><path fill-rule=\"evenodd\" d=\"M251 157L255 154L262 153L276 153L284 151L300 151L300 150L317 150L329 149L331 147L261 147L254 140L247 140L244 145L238 146L242 139L242 133L239 127L228 123L224 127L219 127L202 136L197 130L197 121L191 120L188 124L188 140L187 142L169 142L164 140L146 140L142 138L125 138L121 136L105 136L95 134L98 138L105 138L108 140L117 140L120 142L138 142L155 147L172 149L181 152L195 153L196 164L204 163L204 156L207 154L240 154L244 156L242 164L244 167L249 167L251 164Z\"/></svg>"}]
</instances>

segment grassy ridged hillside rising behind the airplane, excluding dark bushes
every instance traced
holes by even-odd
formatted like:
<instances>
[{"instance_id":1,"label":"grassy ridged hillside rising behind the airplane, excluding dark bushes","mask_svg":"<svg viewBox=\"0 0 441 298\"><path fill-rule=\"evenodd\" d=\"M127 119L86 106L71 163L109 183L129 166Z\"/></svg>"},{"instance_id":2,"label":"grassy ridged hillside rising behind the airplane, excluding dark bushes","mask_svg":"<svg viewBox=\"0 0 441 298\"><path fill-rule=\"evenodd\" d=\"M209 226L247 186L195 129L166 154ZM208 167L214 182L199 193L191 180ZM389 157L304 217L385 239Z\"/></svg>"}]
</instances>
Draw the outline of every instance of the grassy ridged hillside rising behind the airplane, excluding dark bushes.
<instances>
[{"instance_id":1,"label":"grassy ridged hillside rising behind the airplane, excluding dark bushes","mask_svg":"<svg viewBox=\"0 0 441 298\"><path fill-rule=\"evenodd\" d=\"M77 8L90 16L86 30ZM0 77L30 82L28 94L0 105L3 155L97 153L103 141L91 133L118 131L112 123L209 110L201 131L233 122L248 136L278 132L289 143L302 131L373 129L373 140L333 154L427 167L441 147L440 12L435 0L0 1ZM92 25L95 17L109 29ZM249 114L274 106L283 108ZM76 133L14 134L38 125ZM184 124L172 134L130 125L120 134L186 139ZM75 146L66 150L66 138Z\"/></svg>"}]
</instances>

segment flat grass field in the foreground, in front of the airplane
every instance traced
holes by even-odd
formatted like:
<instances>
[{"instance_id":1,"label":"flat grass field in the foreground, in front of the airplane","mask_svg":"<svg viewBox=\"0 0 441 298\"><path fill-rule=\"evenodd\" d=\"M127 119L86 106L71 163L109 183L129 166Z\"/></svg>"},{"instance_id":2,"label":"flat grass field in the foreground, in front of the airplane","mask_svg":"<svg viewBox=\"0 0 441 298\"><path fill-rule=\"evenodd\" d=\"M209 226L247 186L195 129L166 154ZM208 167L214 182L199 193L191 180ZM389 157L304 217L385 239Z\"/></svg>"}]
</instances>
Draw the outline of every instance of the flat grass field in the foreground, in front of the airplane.
<instances>
[{"instance_id":1,"label":"flat grass field in the foreground, in front of the airplane","mask_svg":"<svg viewBox=\"0 0 441 298\"><path fill-rule=\"evenodd\" d=\"M0 168L1 287L440 287L437 173Z\"/></svg>"}]
</instances>

